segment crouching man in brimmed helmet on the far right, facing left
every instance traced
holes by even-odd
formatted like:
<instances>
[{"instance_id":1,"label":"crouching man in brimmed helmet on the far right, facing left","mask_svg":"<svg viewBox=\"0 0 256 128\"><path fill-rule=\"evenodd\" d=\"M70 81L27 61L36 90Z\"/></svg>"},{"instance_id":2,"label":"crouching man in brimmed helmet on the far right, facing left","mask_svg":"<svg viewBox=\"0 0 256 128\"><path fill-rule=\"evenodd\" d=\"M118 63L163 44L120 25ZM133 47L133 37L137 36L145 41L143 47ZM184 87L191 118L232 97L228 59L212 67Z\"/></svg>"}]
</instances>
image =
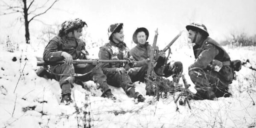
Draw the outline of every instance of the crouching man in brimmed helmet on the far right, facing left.
<instances>
[{"instance_id":1,"label":"crouching man in brimmed helmet on the far right, facing left","mask_svg":"<svg viewBox=\"0 0 256 128\"><path fill-rule=\"evenodd\" d=\"M186 26L192 43L195 62L189 66L189 76L197 93L193 99L229 97L228 86L234 78L230 56L216 41L209 38L204 24L191 23Z\"/></svg>"}]
</instances>

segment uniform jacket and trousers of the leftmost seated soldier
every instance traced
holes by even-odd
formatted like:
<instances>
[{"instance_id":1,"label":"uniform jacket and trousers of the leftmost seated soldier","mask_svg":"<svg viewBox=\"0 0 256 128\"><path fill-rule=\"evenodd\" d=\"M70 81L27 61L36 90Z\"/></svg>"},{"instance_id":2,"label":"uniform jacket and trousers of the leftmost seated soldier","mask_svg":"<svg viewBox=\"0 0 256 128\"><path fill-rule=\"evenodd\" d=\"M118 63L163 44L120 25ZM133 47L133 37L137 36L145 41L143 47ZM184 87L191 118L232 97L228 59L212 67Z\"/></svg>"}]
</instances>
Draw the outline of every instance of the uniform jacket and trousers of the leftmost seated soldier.
<instances>
[{"instance_id":1,"label":"uniform jacket and trousers of the leftmost seated soldier","mask_svg":"<svg viewBox=\"0 0 256 128\"><path fill-rule=\"evenodd\" d=\"M45 62L61 61L64 59L61 56L61 52L69 53L70 55L72 55L73 60L87 59L86 58L87 51L85 50L84 41L76 40L75 38L67 38L67 37L59 37L59 36L52 38L52 40L46 46L44 50L43 59ZM86 64L84 68L73 66L73 64L72 65L59 64L59 65L50 66L49 70L56 74L74 75L75 73L82 73L82 74L87 73L90 70L92 70L94 67L95 65L92 65L92 64ZM99 82L100 88L103 93L106 92L107 90L110 90L108 88L108 84L106 83L106 76L103 74L100 68L93 70L92 73L86 76L76 77L76 79L80 79L82 81L89 81L89 80L93 80L93 77L103 78L103 80L99 80L99 81L105 81L105 83ZM71 93L71 87L73 86L73 82L75 80L74 76L55 75L55 79L59 81L62 94ZM98 81L95 81L95 82L98 83Z\"/></svg>"}]
</instances>

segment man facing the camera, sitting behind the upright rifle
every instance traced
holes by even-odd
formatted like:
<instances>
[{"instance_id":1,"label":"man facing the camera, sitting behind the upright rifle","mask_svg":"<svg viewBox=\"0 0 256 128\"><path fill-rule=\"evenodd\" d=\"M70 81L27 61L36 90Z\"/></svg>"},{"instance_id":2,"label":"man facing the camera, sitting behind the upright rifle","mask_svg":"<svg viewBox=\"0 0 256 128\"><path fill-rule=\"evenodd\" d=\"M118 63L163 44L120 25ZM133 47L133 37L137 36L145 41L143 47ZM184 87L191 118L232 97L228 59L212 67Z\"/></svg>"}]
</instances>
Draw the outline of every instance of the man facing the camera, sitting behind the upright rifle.
<instances>
[{"instance_id":1,"label":"man facing the camera, sitting behind the upright rifle","mask_svg":"<svg viewBox=\"0 0 256 128\"><path fill-rule=\"evenodd\" d=\"M133 34L133 41L135 44L137 44L136 47L132 48L130 50L131 56L136 60L136 61L141 61L149 58L152 46L146 42L148 40L148 29L146 28L138 28L135 30ZM183 72L183 65L180 61L172 62L172 64L168 63L163 69L163 74L162 74L162 66L165 63L166 60L166 55L165 52L161 52L158 47L156 51L156 55L154 57L154 61L157 62L156 66L154 67L154 71L157 75L164 76L164 77L169 77L173 76L176 77L177 74ZM143 67L137 68L136 70L131 70L130 76L132 81L144 81L145 75L148 70L148 65L145 65ZM147 95L152 95L152 88L148 88L147 90Z\"/></svg>"}]
</instances>

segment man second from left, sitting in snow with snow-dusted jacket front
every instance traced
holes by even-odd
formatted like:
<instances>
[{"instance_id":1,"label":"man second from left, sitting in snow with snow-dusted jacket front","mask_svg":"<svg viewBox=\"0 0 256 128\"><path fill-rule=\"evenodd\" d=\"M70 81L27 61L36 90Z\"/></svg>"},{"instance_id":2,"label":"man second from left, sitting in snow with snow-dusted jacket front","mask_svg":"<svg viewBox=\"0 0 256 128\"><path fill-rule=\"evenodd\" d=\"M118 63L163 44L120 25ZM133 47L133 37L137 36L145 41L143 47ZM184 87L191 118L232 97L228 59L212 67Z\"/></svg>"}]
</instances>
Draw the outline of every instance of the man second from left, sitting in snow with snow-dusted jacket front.
<instances>
[{"instance_id":1,"label":"man second from left, sitting in snow with snow-dusted jacket front","mask_svg":"<svg viewBox=\"0 0 256 128\"><path fill-rule=\"evenodd\" d=\"M108 29L109 43L100 47L99 59L100 60L126 60L131 56L129 55L129 49L123 42L123 23L112 24ZM146 60L135 61L129 64L131 67L141 67L147 64ZM130 76L126 73L124 64L106 63L102 65L103 73L108 77L108 84L114 87L122 87L125 93L138 99L139 102L143 102L145 98L138 92L135 92L134 83L132 83Z\"/></svg>"}]
</instances>

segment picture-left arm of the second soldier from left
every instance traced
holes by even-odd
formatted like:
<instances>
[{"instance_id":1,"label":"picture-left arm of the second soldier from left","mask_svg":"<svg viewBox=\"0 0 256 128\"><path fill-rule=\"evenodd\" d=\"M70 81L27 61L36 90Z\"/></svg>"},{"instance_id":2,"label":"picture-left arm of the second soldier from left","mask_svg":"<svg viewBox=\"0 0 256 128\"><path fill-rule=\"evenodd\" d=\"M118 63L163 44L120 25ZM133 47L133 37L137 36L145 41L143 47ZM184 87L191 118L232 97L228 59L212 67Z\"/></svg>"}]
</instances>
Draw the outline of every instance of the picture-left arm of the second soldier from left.
<instances>
[{"instance_id":1,"label":"picture-left arm of the second soldier from left","mask_svg":"<svg viewBox=\"0 0 256 128\"><path fill-rule=\"evenodd\" d=\"M99 60L110 60L110 58L111 56L105 48L99 49ZM116 67L110 67L109 63L103 63L101 67L105 75L116 73Z\"/></svg>"}]
</instances>

